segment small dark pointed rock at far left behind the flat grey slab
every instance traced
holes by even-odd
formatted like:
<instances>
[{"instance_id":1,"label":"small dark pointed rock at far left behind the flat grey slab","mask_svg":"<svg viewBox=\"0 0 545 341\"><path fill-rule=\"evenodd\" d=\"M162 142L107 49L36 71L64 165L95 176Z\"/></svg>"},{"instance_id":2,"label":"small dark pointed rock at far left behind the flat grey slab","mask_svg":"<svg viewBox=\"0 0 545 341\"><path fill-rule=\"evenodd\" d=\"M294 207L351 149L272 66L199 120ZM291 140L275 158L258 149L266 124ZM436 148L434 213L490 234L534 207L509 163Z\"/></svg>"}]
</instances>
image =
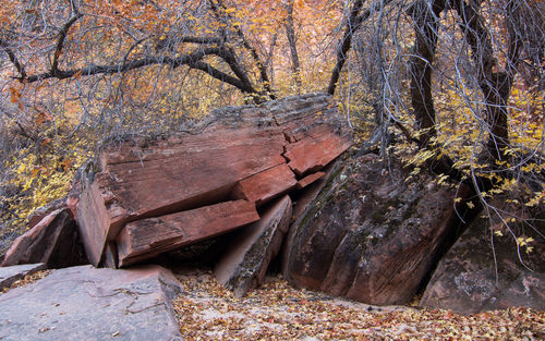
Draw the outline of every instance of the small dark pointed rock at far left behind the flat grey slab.
<instances>
[{"instance_id":1,"label":"small dark pointed rock at far left behind the flat grey slab","mask_svg":"<svg viewBox=\"0 0 545 341\"><path fill-rule=\"evenodd\" d=\"M35 263L45 263L49 268L88 263L70 209L51 211L19 236L5 253L2 267Z\"/></svg>"}]
</instances>

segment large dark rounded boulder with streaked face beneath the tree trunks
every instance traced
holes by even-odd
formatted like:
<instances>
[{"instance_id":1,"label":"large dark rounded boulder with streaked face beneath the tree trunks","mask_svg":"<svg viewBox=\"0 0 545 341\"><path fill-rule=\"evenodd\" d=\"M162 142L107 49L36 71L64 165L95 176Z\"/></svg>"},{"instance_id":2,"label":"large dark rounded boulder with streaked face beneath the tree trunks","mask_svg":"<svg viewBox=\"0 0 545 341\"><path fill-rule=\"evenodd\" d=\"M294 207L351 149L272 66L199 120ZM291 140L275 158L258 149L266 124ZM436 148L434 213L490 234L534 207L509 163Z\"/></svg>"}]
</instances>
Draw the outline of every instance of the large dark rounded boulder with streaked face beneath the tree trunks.
<instances>
[{"instance_id":1,"label":"large dark rounded boulder with streaked face beneath the tree trunks","mask_svg":"<svg viewBox=\"0 0 545 341\"><path fill-rule=\"evenodd\" d=\"M459 232L455 191L375 155L337 167L290 227L283 277L370 304L408 303Z\"/></svg>"}]
</instances>

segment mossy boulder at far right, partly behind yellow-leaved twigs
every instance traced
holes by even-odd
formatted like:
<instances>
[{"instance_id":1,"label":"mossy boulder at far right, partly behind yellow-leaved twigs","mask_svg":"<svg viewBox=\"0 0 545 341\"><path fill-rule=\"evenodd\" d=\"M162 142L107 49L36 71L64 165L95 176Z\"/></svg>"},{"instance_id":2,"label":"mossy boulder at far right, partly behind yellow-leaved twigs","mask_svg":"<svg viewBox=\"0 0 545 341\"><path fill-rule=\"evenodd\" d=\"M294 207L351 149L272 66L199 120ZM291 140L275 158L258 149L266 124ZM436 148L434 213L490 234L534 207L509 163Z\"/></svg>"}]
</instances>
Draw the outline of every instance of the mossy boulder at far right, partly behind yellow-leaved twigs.
<instances>
[{"instance_id":1,"label":"mossy boulder at far right, partly behind yellow-leaved twigs","mask_svg":"<svg viewBox=\"0 0 545 341\"><path fill-rule=\"evenodd\" d=\"M506 200L494 199L491 205L498 207L505 217L512 212L506 207ZM514 216L521 215L524 214L517 210ZM421 306L460 314L512 306L545 310L545 220L536 217L526 217L523 223L509 223L517 238L533 239L528 244L533 247L529 253L525 246L517 246L498 217L493 217L492 224L483 218L472 222L439 263Z\"/></svg>"}]
</instances>

